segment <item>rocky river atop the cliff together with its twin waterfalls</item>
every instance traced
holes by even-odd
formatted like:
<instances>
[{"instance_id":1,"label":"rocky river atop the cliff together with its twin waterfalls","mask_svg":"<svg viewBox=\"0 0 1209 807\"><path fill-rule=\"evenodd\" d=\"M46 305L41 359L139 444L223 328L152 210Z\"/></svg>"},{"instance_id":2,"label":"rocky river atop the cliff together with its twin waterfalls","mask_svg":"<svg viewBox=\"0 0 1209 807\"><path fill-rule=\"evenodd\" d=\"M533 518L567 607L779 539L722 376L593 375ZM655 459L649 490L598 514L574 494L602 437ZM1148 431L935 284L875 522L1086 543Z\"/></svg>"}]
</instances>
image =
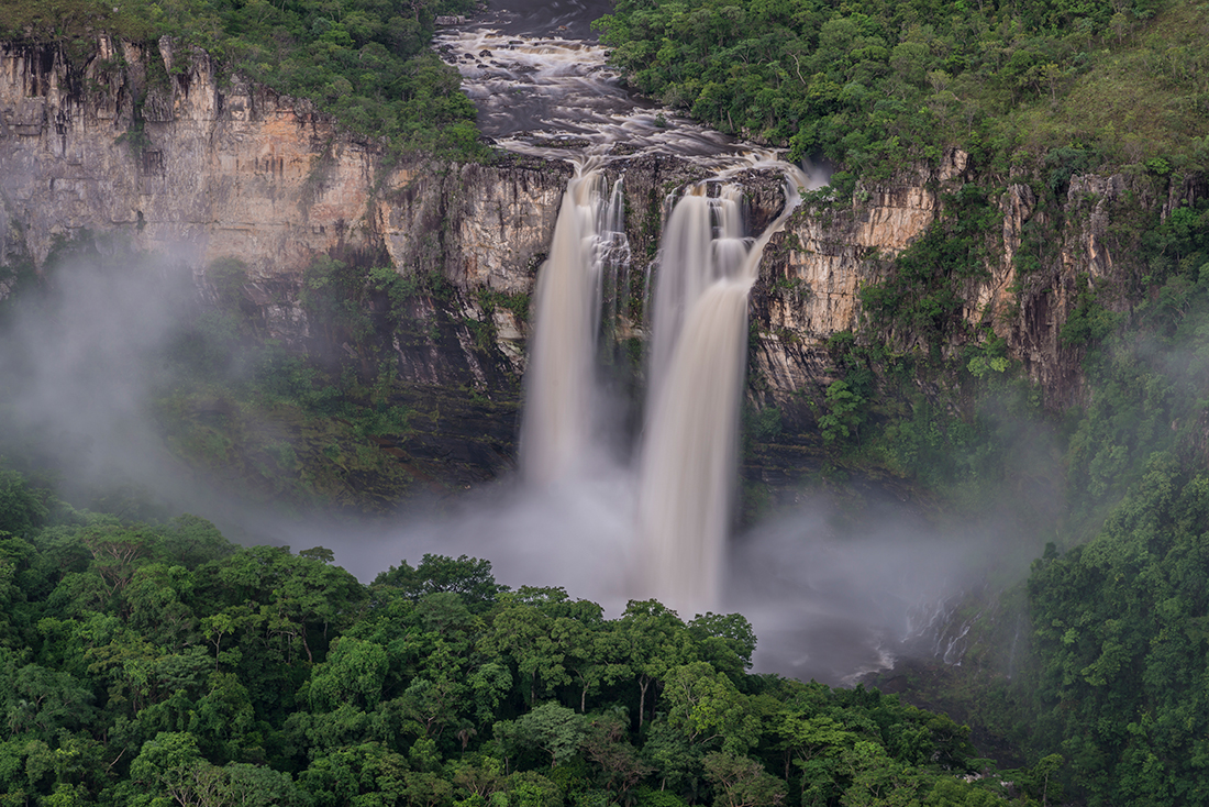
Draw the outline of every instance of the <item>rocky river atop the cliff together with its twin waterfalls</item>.
<instances>
[{"instance_id":1,"label":"rocky river atop the cliff together with its twin waterfalls","mask_svg":"<svg viewBox=\"0 0 1209 807\"><path fill-rule=\"evenodd\" d=\"M786 177L786 204L759 238L748 237L742 189L722 180L756 160L730 138L630 96L608 69L604 50L572 38L574 23L553 18L554 31L534 30L531 16L494 10L439 38L487 134L504 148L575 165L538 272L521 468L527 484L550 485L592 467L594 362L611 254L604 247L625 232L621 179L609 192L601 172L608 152L624 146L626 154L671 154L715 166L715 181L683 189L660 242L647 322L646 427L631 472L637 511L627 593L690 617L718 607L748 292L764 244L794 209L798 188L810 183L796 167L765 156L764 166Z\"/></svg>"}]
</instances>

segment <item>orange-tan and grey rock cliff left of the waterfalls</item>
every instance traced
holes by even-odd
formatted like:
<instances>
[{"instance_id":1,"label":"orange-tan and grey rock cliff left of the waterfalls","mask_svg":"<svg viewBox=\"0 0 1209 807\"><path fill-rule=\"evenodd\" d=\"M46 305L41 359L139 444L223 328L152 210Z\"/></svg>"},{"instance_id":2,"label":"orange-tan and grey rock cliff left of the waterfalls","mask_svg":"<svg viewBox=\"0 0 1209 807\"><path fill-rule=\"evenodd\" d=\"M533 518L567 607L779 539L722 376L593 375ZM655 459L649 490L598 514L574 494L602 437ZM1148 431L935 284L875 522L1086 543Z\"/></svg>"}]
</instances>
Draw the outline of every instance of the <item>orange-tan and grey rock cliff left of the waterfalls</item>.
<instances>
[{"instance_id":1,"label":"orange-tan and grey rock cliff left of the waterfalls","mask_svg":"<svg viewBox=\"0 0 1209 807\"><path fill-rule=\"evenodd\" d=\"M0 45L0 264L41 266L57 240L85 230L198 281L236 256L249 266L245 296L288 340L308 336L297 292L319 254L436 270L459 290L526 290L569 171L520 158L392 165L308 102L221 79L203 52L106 38L82 62L53 45ZM452 319L482 316L473 298L456 302L467 310L455 305ZM496 333L520 339L520 328ZM453 332L405 367L416 381L485 390L498 379L475 351L450 353L450 341L473 341Z\"/></svg>"}]
</instances>

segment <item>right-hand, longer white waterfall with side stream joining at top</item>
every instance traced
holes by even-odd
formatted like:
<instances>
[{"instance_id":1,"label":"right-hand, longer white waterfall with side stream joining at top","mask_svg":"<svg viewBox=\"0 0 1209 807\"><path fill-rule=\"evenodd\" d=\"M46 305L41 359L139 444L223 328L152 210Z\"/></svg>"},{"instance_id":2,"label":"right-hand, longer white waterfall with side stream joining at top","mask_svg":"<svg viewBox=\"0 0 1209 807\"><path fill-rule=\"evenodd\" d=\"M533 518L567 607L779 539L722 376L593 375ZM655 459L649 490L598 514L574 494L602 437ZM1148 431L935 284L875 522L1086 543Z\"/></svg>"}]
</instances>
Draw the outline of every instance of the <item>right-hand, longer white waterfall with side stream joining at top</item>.
<instances>
[{"instance_id":1,"label":"right-hand, longer white waterfall with side stream joining at top","mask_svg":"<svg viewBox=\"0 0 1209 807\"><path fill-rule=\"evenodd\" d=\"M644 595L684 616L717 607L734 498L747 295L764 246L805 184L794 172L787 178L785 211L754 242L741 237L739 189L724 188L717 200L693 189L672 212L660 250L635 576Z\"/></svg>"}]
</instances>

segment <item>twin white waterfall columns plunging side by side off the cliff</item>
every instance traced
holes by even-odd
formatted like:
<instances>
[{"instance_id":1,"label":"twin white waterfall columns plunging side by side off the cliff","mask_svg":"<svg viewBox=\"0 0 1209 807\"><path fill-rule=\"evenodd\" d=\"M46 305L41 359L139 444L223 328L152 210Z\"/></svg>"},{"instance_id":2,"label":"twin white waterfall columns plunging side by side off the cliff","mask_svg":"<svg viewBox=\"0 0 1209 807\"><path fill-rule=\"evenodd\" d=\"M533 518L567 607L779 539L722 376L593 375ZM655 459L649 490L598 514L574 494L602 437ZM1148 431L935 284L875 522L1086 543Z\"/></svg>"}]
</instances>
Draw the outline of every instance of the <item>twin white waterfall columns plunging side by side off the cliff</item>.
<instances>
[{"instance_id":1,"label":"twin white waterfall columns plunging side by side off the cliff","mask_svg":"<svg viewBox=\"0 0 1209 807\"><path fill-rule=\"evenodd\" d=\"M659 249L630 594L659 599L684 616L717 607L734 498L747 296L764 246L805 185L796 167L777 167L787 178L787 203L758 238L744 236L740 188L723 185L710 197L701 183L677 201ZM583 473L591 454L602 278L624 232L617 191L607 192L597 166L577 166L538 275L521 430L530 484Z\"/></svg>"}]
</instances>

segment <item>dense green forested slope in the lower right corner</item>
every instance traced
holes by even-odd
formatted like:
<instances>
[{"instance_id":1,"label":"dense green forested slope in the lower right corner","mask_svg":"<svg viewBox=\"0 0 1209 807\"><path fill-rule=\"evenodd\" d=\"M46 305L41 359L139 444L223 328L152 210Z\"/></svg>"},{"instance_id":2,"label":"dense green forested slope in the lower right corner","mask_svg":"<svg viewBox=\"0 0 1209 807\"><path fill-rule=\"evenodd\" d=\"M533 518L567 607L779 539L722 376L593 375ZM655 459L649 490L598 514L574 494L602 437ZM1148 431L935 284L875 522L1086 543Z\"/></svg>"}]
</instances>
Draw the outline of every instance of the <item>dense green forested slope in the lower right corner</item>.
<instances>
[{"instance_id":1,"label":"dense green forested slope in the lower right corner","mask_svg":"<svg viewBox=\"0 0 1209 807\"><path fill-rule=\"evenodd\" d=\"M1074 783L1097 800L1204 803L1207 490L1152 455L1094 541L1034 566L1039 697Z\"/></svg>"}]
</instances>

